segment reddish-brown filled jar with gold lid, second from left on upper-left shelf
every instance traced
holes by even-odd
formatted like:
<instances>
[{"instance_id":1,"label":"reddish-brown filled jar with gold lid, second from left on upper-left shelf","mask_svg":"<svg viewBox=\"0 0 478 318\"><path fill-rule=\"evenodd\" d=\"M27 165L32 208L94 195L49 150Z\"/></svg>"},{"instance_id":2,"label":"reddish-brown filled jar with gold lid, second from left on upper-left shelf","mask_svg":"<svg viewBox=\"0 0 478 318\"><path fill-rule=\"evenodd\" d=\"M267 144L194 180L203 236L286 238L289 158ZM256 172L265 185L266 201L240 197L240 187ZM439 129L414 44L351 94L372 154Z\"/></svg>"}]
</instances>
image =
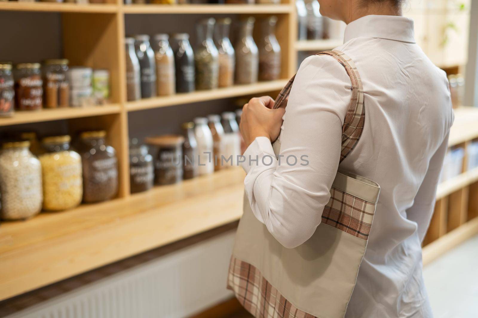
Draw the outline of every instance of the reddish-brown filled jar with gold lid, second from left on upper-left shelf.
<instances>
[{"instance_id":1,"label":"reddish-brown filled jar with gold lid, second from left on upper-left shelf","mask_svg":"<svg viewBox=\"0 0 478 318\"><path fill-rule=\"evenodd\" d=\"M43 81L40 63L21 63L15 67L15 107L38 110L43 104Z\"/></svg>"}]
</instances>

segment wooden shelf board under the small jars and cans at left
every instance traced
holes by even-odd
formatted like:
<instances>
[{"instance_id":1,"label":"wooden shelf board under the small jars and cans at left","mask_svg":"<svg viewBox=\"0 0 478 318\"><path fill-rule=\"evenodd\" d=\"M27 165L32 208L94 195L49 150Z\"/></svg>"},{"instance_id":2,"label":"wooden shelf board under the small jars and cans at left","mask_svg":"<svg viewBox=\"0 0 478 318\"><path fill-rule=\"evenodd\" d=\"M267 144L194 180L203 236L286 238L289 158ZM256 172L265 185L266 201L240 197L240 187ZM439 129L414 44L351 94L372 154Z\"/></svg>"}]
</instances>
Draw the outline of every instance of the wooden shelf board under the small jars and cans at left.
<instances>
[{"instance_id":1,"label":"wooden shelf board under the small jars and cans at left","mask_svg":"<svg viewBox=\"0 0 478 318\"><path fill-rule=\"evenodd\" d=\"M9 126L42 121L91 117L99 115L120 113L119 104L91 107L66 107L54 109L41 109L38 111L17 111L12 117L0 118L0 126Z\"/></svg>"}]
</instances>

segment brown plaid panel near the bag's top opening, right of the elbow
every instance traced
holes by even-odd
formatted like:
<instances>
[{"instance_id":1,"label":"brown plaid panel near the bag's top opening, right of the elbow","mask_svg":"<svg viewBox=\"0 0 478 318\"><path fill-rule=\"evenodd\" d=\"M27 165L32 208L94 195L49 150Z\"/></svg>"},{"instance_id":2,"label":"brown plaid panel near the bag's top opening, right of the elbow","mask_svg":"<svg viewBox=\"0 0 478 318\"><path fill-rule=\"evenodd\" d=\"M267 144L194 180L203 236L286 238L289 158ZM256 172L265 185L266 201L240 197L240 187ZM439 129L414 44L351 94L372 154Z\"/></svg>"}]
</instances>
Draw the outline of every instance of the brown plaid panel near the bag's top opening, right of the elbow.
<instances>
[{"instance_id":1,"label":"brown plaid panel near the bag's top opening, right of the elbow","mask_svg":"<svg viewBox=\"0 0 478 318\"><path fill-rule=\"evenodd\" d=\"M322 223L368 240L374 213L375 204L332 188L330 200L322 212Z\"/></svg>"}]
</instances>

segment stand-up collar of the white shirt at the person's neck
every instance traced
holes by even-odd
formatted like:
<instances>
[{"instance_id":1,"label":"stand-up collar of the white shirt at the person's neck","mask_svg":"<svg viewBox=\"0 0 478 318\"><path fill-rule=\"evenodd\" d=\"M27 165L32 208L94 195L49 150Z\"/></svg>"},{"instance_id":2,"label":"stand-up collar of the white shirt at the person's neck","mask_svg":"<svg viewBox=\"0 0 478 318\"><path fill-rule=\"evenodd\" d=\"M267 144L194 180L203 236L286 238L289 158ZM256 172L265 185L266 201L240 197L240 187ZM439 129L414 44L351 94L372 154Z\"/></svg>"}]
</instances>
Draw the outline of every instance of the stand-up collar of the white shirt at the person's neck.
<instances>
[{"instance_id":1,"label":"stand-up collar of the white shirt at the person's neck","mask_svg":"<svg viewBox=\"0 0 478 318\"><path fill-rule=\"evenodd\" d=\"M344 43L358 37L369 37L415 43L413 20L394 15L366 15L348 23Z\"/></svg>"}]
</instances>

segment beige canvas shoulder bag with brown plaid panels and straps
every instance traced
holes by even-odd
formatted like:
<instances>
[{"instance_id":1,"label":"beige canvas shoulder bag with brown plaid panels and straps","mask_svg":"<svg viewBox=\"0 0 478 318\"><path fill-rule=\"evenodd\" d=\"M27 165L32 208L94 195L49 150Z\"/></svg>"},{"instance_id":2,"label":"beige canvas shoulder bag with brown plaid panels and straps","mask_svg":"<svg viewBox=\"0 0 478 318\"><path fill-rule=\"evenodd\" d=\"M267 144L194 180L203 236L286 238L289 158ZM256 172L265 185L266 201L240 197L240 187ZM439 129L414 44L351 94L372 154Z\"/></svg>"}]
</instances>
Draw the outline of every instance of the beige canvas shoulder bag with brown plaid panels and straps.
<instances>
[{"instance_id":1,"label":"beige canvas shoulder bag with brown plaid panels and straps","mask_svg":"<svg viewBox=\"0 0 478 318\"><path fill-rule=\"evenodd\" d=\"M342 129L342 161L363 130L362 83L355 65L344 53L321 54L342 64L352 83L352 98ZM277 97L275 108L287 100L294 77ZM277 156L280 143L276 141L273 148ZM337 172L322 222L309 240L292 249L283 247L255 218L244 195L244 214L229 265L228 288L256 318L344 317L379 192L379 185L371 180Z\"/></svg>"}]
</instances>

